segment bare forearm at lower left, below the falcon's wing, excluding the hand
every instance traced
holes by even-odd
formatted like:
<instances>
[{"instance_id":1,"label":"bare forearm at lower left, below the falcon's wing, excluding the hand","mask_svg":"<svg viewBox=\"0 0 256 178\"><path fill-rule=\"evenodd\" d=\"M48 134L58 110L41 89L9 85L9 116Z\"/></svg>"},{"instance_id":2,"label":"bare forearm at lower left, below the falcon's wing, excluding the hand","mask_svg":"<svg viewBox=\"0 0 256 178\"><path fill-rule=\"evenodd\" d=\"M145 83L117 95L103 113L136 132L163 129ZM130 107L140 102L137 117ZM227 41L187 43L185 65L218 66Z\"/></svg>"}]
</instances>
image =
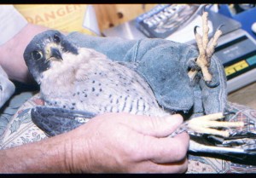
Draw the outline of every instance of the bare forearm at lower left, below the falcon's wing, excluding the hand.
<instances>
[{"instance_id":1,"label":"bare forearm at lower left, below the falcon's wing, excluding the hand","mask_svg":"<svg viewBox=\"0 0 256 178\"><path fill-rule=\"evenodd\" d=\"M0 152L2 173L67 173L72 152L66 135Z\"/></svg>"}]
</instances>

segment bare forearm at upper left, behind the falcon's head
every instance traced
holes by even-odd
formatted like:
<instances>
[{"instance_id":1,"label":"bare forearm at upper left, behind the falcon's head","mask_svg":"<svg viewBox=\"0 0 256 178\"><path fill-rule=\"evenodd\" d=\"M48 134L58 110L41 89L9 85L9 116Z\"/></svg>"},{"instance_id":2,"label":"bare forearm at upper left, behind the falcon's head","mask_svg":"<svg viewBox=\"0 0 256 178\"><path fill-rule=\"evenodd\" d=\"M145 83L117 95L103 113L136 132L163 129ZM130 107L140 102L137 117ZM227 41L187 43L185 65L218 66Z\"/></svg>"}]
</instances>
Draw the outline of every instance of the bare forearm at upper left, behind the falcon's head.
<instances>
[{"instance_id":1,"label":"bare forearm at upper left, behind the falcon's head","mask_svg":"<svg viewBox=\"0 0 256 178\"><path fill-rule=\"evenodd\" d=\"M32 37L47 29L28 23L15 37L0 46L0 65L10 79L25 83L32 81L23 59L23 52Z\"/></svg>"}]
</instances>

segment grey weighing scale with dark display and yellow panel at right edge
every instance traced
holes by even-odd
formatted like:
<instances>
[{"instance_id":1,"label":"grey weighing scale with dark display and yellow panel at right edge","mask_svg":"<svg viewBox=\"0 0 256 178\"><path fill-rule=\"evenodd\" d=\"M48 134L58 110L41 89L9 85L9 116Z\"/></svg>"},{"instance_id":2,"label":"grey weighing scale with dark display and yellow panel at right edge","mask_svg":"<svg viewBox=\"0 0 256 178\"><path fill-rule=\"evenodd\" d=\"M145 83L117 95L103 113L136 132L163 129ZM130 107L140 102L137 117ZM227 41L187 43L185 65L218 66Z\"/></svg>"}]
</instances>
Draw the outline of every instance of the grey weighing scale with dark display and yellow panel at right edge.
<instances>
[{"instance_id":1,"label":"grey weighing scale with dark display and yellow panel at right edge","mask_svg":"<svg viewBox=\"0 0 256 178\"><path fill-rule=\"evenodd\" d=\"M256 81L256 43L239 29L220 39L215 55L223 62L228 92Z\"/></svg>"}]
</instances>

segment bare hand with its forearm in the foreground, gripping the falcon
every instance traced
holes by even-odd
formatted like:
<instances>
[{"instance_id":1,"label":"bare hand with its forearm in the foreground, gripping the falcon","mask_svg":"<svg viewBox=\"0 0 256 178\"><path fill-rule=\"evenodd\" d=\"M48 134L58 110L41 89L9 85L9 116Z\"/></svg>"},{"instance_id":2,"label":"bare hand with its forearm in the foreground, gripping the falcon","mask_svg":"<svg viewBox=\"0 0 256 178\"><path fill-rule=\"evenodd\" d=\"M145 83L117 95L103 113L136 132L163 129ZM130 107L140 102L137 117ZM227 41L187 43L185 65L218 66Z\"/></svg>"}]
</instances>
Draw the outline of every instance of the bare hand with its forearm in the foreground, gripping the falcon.
<instances>
[{"instance_id":1,"label":"bare hand with its forearm in the foreground, gripping the falcon","mask_svg":"<svg viewBox=\"0 0 256 178\"><path fill-rule=\"evenodd\" d=\"M67 133L0 151L1 173L180 173L189 135L171 135L180 115L106 113Z\"/></svg>"}]
</instances>

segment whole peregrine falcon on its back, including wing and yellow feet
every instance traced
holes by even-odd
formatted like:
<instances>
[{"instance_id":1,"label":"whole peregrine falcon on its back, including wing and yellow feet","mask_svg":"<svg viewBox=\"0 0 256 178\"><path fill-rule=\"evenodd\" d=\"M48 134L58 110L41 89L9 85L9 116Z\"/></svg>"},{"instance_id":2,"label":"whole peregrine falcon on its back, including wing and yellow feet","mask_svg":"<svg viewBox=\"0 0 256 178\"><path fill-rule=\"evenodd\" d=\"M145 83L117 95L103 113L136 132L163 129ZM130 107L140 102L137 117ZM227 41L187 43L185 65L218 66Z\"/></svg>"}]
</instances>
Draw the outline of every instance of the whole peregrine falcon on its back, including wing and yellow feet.
<instances>
[{"instance_id":1,"label":"whole peregrine falcon on its back, including wing and yellow feet","mask_svg":"<svg viewBox=\"0 0 256 178\"><path fill-rule=\"evenodd\" d=\"M197 34L195 36L200 46L201 37L197 37ZM210 46L210 49L214 49L217 40L218 37L213 37L213 47ZM213 51L200 50L203 52L196 62L203 71L207 85L211 87L211 74L204 61L211 58ZM207 54L207 59L204 54ZM47 106L35 108L32 114L41 114L43 118L52 116L53 119L45 121L34 117L33 121L41 129L48 130L49 135L74 129L103 112L129 112L159 117L172 114L159 105L154 90L132 66L110 60L94 49L80 48L68 41L61 32L49 30L38 34L27 45L24 59L32 77L40 85L40 94ZM194 78L197 71L191 71L189 78ZM55 116L62 118L57 121ZM230 135L229 130L219 130L219 127L229 129L242 127L244 124L216 121L219 118L224 118L224 113L192 118L184 122L171 136L187 131L190 135L207 133L227 137ZM50 129L53 128L57 132L51 132ZM245 152L236 148L199 146L192 141L189 146L189 150L195 152L211 152L216 151L216 148L218 152Z\"/></svg>"}]
</instances>

